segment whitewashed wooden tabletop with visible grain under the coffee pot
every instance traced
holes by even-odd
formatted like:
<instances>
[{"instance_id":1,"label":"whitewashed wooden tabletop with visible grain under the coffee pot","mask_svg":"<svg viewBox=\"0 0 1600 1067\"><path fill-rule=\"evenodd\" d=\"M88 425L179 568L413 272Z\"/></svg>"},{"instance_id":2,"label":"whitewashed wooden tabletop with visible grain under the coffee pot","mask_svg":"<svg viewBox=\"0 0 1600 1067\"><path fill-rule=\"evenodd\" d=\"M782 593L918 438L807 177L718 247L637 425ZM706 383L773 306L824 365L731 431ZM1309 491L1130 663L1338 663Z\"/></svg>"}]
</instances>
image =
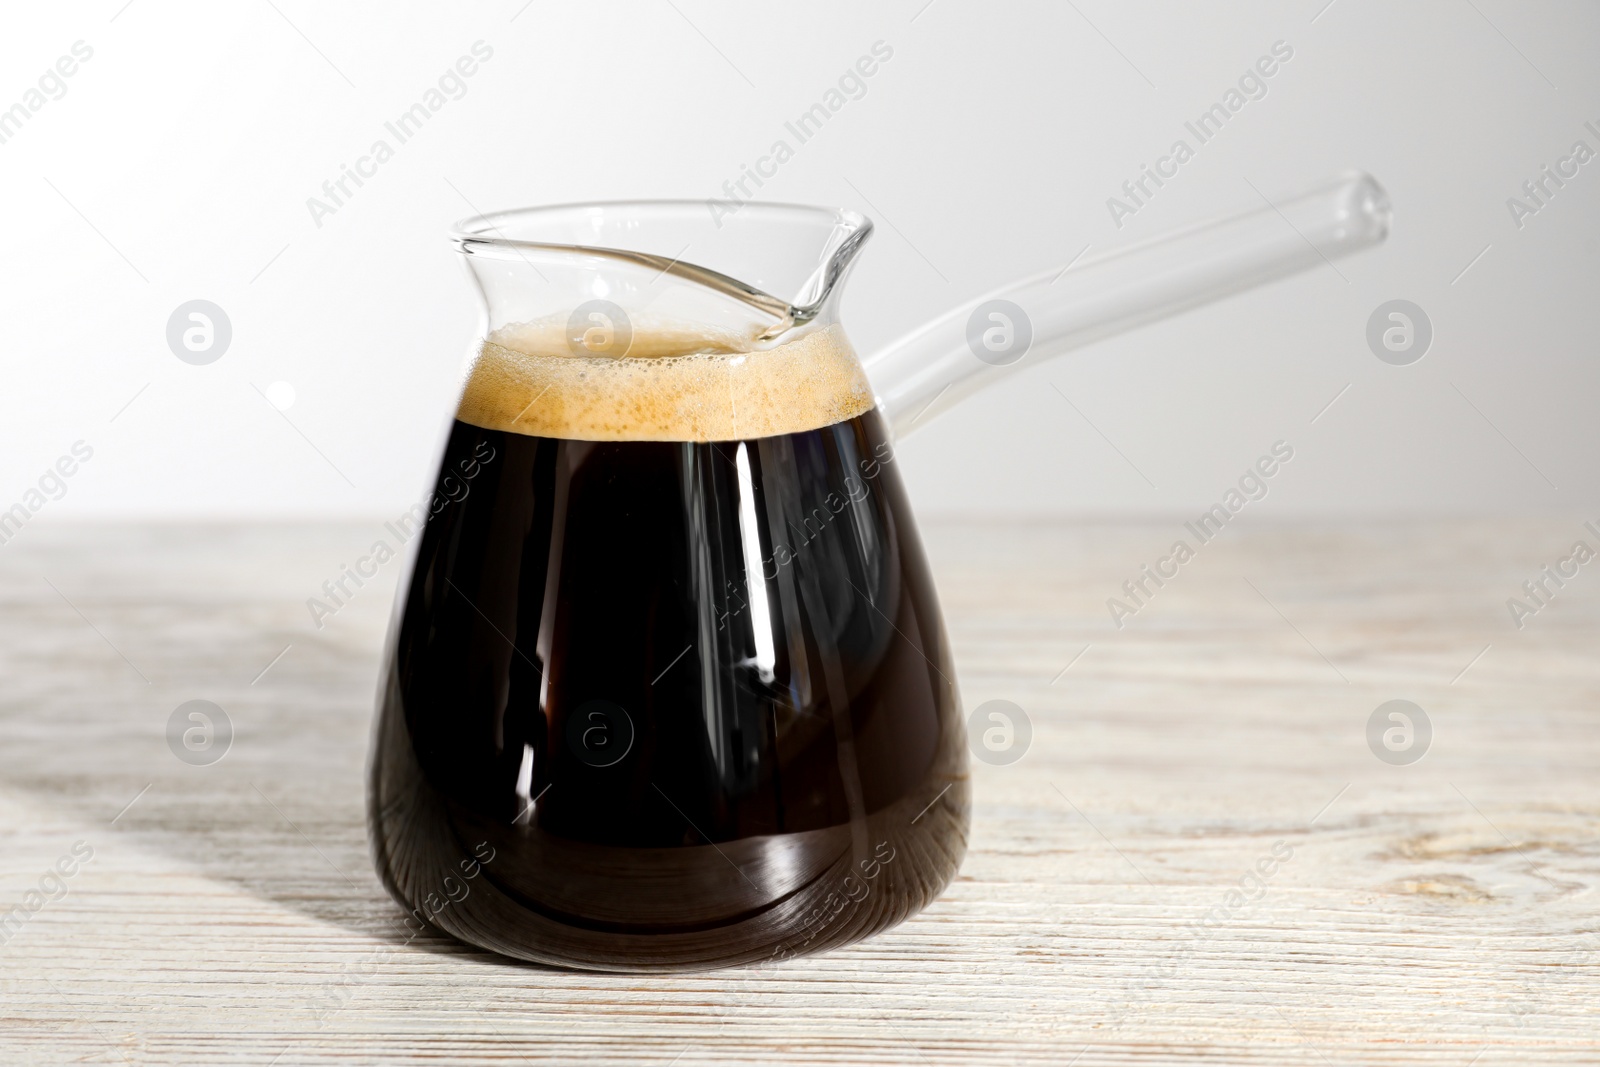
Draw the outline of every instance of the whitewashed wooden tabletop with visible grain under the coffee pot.
<instances>
[{"instance_id":1,"label":"whitewashed wooden tabletop with visible grain under the coffee pot","mask_svg":"<svg viewBox=\"0 0 1600 1067\"><path fill-rule=\"evenodd\" d=\"M1600 571L1506 609L1578 523L1227 530L1115 629L1178 533L930 525L965 705L1034 728L974 765L957 881L843 952L638 977L398 925L363 825L397 568L304 603L379 523L29 526L0 917L59 899L0 920L0 1062L1600 1062ZM1365 741L1394 697L1410 766ZM211 766L166 747L189 699L234 723Z\"/></svg>"}]
</instances>

